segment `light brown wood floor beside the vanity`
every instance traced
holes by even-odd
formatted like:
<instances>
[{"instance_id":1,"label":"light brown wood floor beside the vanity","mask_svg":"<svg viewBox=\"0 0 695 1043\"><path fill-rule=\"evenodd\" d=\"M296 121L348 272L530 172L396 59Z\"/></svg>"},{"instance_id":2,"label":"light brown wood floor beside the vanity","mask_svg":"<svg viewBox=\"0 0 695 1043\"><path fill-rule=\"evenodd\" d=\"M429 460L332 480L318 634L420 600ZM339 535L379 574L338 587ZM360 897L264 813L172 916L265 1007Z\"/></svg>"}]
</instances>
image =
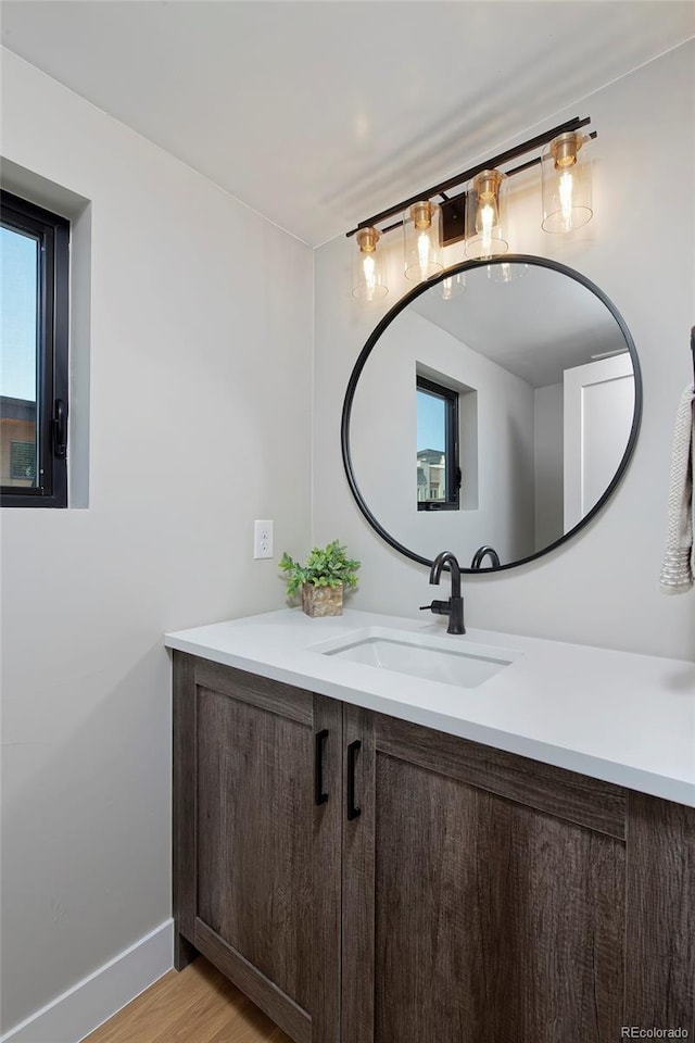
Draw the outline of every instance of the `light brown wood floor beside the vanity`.
<instances>
[{"instance_id":1,"label":"light brown wood floor beside the vanity","mask_svg":"<svg viewBox=\"0 0 695 1043\"><path fill-rule=\"evenodd\" d=\"M291 1043L199 956L169 970L83 1043Z\"/></svg>"}]
</instances>

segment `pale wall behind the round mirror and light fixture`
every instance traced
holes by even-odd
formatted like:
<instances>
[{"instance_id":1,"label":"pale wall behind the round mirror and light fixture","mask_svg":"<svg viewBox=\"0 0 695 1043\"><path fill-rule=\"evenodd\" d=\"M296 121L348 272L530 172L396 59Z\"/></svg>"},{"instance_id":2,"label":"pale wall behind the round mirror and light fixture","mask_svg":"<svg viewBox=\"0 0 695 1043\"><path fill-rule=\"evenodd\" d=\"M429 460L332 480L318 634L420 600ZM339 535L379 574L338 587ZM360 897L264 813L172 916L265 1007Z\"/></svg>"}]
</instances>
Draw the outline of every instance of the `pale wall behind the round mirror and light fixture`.
<instances>
[{"instance_id":1,"label":"pale wall behind the round mirror and light fixture","mask_svg":"<svg viewBox=\"0 0 695 1043\"><path fill-rule=\"evenodd\" d=\"M514 189L521 204L510 227L514 248L577 268L622 313L642 363L642 430L615 497L574 540L509 573L468 578L471 627L695 657L695 594L667 598L658 589L673 422L693 376L694 70L691 41L571 110L549 114L538 127L591 115L599 135L595 217L571 239L545 235L540 189L531 190L532 177L527 178ZM533 133L523 128L518 140ZM490 146L502 151L504 142ZM459 168L476 159L462 154ZM658 202L661 185L668 186L675 217ZM340 537L362 560L359 590L351 604L416 615L431 595L427 570L380 542L342 477L340 413L352 366L370 330L405 289L391 261L394 290L386 302L353 301L352 247L341 238L316 252L314 536L318 542Z\"/></svg>"}]
</instances>

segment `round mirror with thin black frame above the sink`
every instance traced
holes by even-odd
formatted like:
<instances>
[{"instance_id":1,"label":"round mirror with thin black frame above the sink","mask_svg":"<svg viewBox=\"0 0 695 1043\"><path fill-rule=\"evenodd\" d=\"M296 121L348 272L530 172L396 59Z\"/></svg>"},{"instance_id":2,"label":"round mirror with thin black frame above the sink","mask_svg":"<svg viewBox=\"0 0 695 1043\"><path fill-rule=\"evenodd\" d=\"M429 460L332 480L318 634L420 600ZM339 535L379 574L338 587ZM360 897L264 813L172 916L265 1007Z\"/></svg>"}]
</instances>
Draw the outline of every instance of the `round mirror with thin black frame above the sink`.
<instances>
[{"instance_id":1,"label":"round mirror with thin black frame above the sink","mask_svg":"<svg viewBox=\"0 0 695 1043\"><path fill-rule=\"evenodd\" d=\"M470 261L416 287L379 323L342 415L359 510L431 565L511 568L606 503L640 425L642 384L616 307L541 257Z\"/></svg>"}]
</instances>

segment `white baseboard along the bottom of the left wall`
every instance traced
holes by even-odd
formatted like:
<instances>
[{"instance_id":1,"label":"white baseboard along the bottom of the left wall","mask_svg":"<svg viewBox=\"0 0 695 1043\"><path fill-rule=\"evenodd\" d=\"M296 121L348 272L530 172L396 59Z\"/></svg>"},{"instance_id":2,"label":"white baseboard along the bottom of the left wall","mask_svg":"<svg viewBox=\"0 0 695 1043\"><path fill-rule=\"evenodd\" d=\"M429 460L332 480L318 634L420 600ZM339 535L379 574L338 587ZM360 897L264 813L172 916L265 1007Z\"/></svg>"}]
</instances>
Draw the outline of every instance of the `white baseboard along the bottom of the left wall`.
<instances>
[{"instance_id":1,"label":"white baseboard along the bottom of the left wall","mask_svg":"<svg viewBox=\"0 0 695 1043\"><path fill-rule=\"evenodd\" d=\"M124 950L0 1038L0 1043L78 1043L174 966L174 920Z\"/></svg>"}]
</instances>

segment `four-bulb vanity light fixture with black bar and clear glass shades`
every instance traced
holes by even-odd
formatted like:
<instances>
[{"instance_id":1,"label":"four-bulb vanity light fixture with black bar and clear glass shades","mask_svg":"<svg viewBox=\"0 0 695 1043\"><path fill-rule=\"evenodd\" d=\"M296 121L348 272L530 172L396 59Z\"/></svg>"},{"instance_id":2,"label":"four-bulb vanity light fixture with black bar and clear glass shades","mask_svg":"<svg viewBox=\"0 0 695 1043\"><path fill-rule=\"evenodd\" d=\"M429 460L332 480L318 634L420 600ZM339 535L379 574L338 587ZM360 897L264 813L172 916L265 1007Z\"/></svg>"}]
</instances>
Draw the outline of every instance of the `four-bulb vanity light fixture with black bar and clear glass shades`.
<instances>
[{"instance_id":1,"label":"four-bulb vanity light fixture with black bar and clear glass shades","mask_svg":"<svg viewBox=\"0 0 695 1043\"><path fill-rule=\"evenodd\" d=\"M353 251L353 296L372 301L388 293L379 269L377 243L382 236L403 228L404 272L408 279L422 282L443 271L442 249L463 242L462 253L475 260L501 256L509 249L504 237L505 186L522 171L541 166L543 178L543 228L545 231L572 231L593 214L591 205L591 163L582 149L596 131L580 134L591 117L574 116L544 134L478 163L454 177L433 185L388 210L359 222L348 233L356 238ZM519 166L506 168L520 156L546 149ZM503 169L505 167L505 169ZM468 189L450 196L451 189L468 184ZM386 224L399 215L401 219ZM456 263L455 261L453 263ZM495 280L507 281L495 272ZM442 285L442 297L463 292L464 285Z\"/></svg>"}]
</instances>

